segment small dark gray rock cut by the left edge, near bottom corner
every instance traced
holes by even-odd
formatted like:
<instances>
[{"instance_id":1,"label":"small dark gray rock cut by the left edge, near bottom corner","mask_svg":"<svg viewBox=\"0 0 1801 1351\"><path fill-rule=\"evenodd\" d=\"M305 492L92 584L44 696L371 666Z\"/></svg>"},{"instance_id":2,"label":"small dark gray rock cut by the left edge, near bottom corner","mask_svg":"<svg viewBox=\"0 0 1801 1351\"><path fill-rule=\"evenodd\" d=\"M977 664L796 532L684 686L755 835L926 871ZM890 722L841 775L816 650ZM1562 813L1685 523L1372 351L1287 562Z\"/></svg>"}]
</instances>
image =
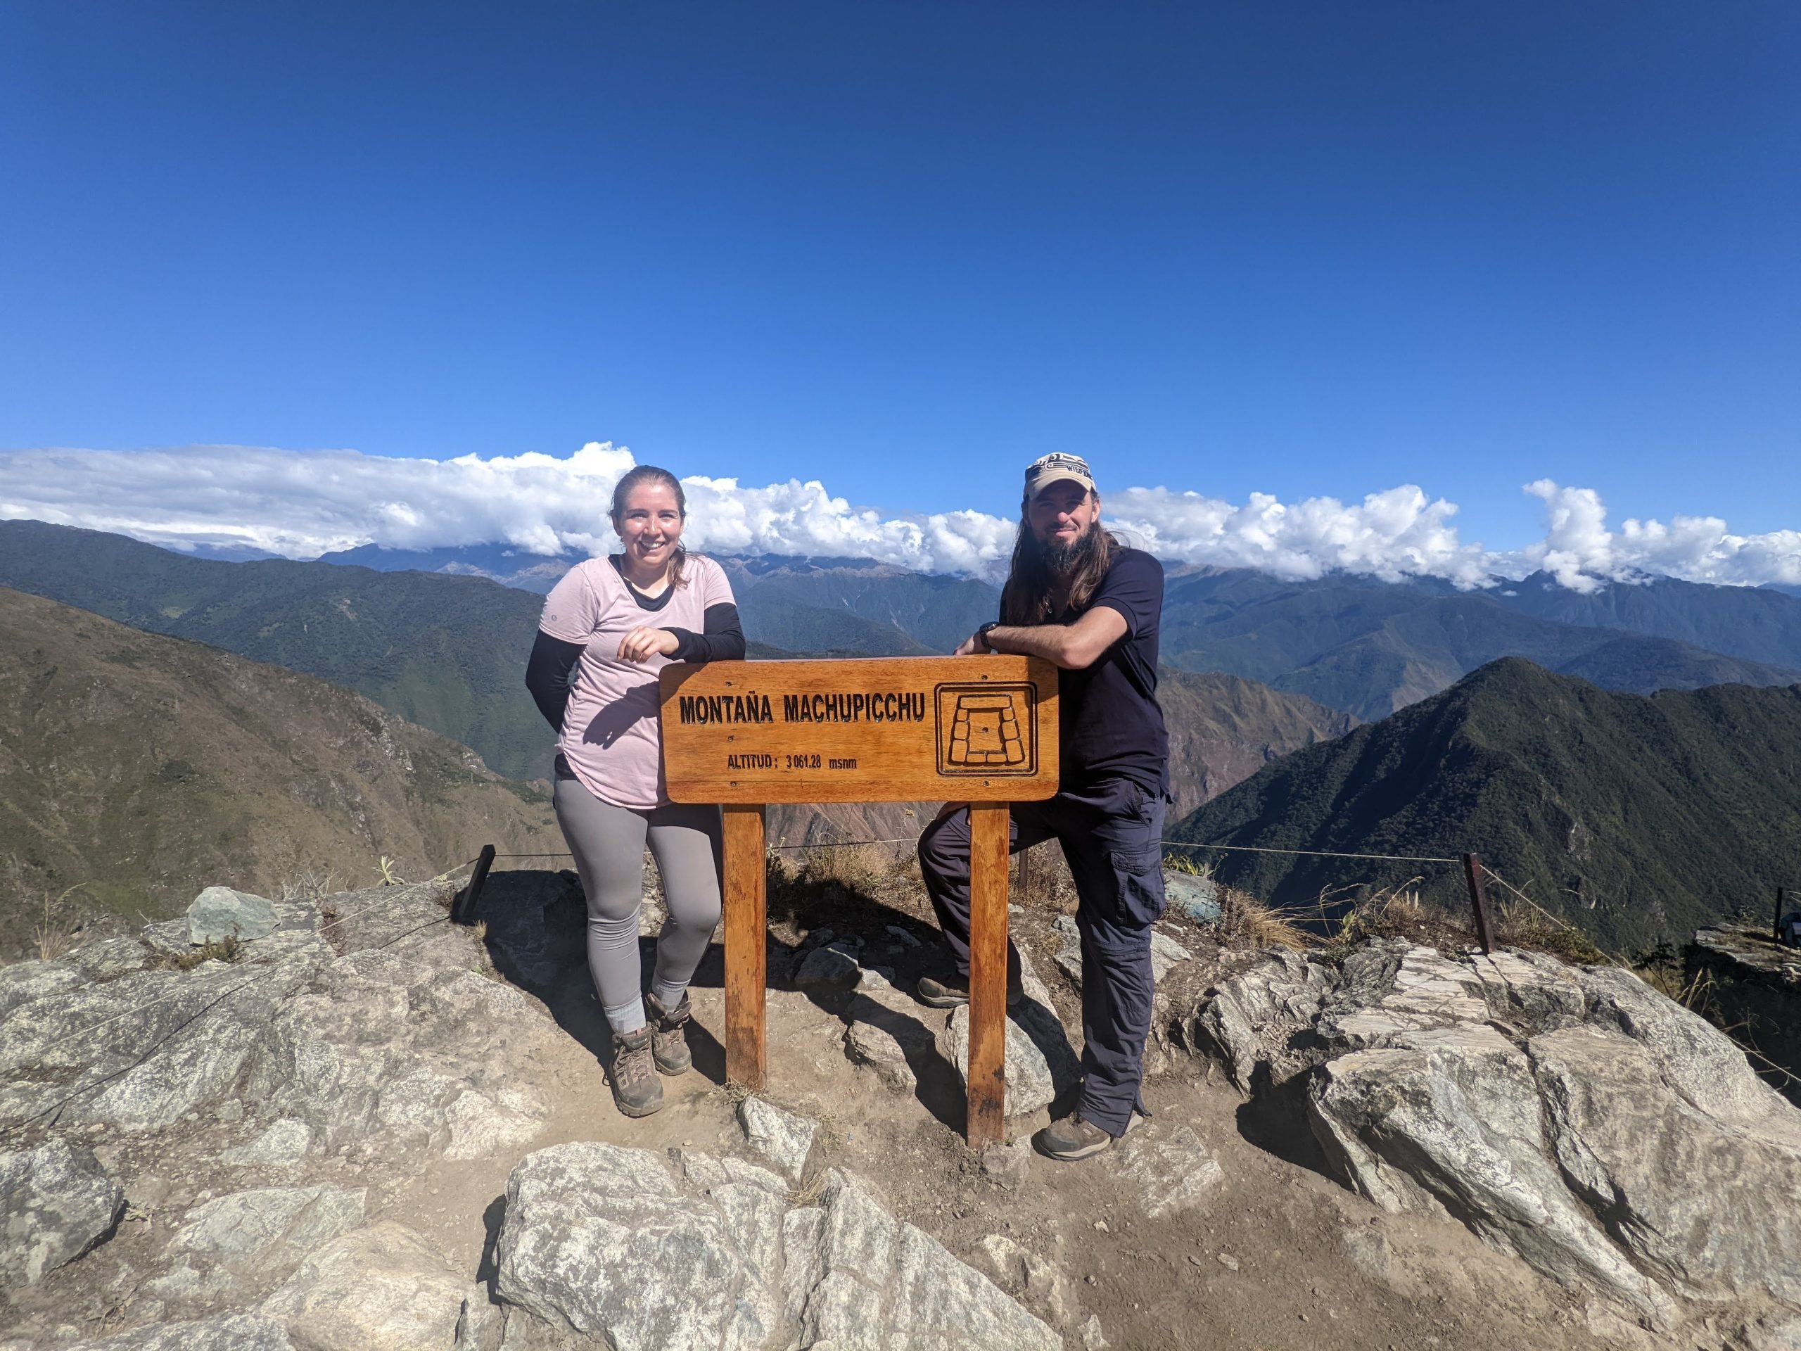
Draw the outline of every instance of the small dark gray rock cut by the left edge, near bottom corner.
<instances>
[{"instance_id":1,"label":"small dark gray rock cut by the left edge, near bottom corner","mask_svg":"<svg viewBox=\"0 0 1801 1351\"><path fill-rule=\"evenodd\" d=\"M86 1149L56 1140L0 1155L0 1275L38 1284L104 1239L124 1189Z\"/></svg>"}]
</instances>

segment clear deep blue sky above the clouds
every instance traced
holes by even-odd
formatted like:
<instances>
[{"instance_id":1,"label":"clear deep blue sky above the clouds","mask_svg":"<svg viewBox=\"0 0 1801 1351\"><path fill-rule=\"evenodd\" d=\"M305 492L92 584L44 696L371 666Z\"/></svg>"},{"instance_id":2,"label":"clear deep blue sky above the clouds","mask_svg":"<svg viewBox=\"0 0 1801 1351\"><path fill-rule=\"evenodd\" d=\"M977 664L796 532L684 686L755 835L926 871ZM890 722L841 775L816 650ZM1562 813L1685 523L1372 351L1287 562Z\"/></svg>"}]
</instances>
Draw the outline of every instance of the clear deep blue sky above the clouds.
<instances>
[{"instance_id":1,"label":"clear deep blue sky above the clouds","mask_svg":"<svg viewBox=\"0 0 1801 1351\"><path fill-rule=\"evenodd\" d=\"M0 193L13 452L1801 526L1776 0L20 4Z\"/></svg>"}]
</instances>

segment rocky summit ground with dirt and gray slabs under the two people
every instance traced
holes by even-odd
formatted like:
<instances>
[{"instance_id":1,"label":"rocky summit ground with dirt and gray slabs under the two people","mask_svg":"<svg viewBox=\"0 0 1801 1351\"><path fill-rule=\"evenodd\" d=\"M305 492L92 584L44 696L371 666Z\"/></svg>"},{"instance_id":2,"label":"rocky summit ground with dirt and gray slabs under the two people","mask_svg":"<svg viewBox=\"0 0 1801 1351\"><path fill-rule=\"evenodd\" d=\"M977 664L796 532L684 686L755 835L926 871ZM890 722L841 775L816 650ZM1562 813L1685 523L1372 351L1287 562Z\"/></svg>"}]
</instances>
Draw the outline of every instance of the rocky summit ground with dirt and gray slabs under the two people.
<instances>
[{"instance_id":1,"label":"rocky summit ground with dirt and gray slabs under the two people","mask_svg":"<svg viewBox=\"0 0 1801 1351\"><path fill-rule=\"evenodd\" d=\"M0 1347L1801 1346L1801 1113L1628 973L1165 922L1156 1115L1059 1165L1052 908L978 1158L917 892L778 888L767 1092L715 953L643 1120L573 877L497 874L474 929L452 893L213 893L0 967Z\"/></svg>"}]
</instances>

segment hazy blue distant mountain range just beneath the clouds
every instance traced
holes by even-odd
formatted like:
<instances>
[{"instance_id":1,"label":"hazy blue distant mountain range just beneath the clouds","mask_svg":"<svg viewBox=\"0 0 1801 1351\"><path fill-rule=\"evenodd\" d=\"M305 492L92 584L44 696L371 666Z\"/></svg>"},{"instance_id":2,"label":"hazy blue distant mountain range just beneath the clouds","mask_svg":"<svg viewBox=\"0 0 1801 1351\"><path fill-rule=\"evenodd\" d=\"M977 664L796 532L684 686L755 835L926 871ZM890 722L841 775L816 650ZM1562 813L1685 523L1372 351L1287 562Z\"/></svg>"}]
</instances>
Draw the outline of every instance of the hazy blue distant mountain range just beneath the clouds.
<instances>
[{"instance_id":1,"label":"hazy blue distant mountain range just beneath the clouds","mask_svg":"<svg viewBox=\"0 0 1801 1351\"><path fill-rule=\"evenodd\" d=\"M382 569L484 573L531 589L555 585L571 562L499 546L364 546L326 557ZM738 593L746 634L785 650L944 652L1000 607L1000 593L980 578L929 576L863 558L720 562ZM1578 593L1545 573L1497 578L1484 591L1345 573L1282 580L1243 567L1171 567L1167 575L1165 663L1243 676L1365 721L1504 656L1637 694L1727 681L1790 685L1801 679L1801 600L1781 587L1675 578Z\"/></svg>"}]
</instances>

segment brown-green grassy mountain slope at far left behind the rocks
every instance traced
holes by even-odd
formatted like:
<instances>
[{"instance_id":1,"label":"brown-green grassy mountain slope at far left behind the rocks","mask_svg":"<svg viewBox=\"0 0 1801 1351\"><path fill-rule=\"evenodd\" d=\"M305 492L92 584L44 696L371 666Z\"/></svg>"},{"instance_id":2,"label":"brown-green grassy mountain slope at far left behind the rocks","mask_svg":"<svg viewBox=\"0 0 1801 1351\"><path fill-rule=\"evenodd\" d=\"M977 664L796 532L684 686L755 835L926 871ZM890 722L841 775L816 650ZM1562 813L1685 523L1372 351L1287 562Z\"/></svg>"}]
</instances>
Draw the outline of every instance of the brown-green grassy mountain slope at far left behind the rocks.
<instances>
[{"instance_id":1,"label":"brown-green grassy mountain slope at far left behind the rocks","mask_svg":"<svg viewBox=\"0 0 1801 1351\"><path fill-rule=\"evenodd\" d=\"M351 690L7 589L0 632L0 955L68 888L58 915L158 919L562 847L548 793Z\"/></svg>"}]
</instances>

